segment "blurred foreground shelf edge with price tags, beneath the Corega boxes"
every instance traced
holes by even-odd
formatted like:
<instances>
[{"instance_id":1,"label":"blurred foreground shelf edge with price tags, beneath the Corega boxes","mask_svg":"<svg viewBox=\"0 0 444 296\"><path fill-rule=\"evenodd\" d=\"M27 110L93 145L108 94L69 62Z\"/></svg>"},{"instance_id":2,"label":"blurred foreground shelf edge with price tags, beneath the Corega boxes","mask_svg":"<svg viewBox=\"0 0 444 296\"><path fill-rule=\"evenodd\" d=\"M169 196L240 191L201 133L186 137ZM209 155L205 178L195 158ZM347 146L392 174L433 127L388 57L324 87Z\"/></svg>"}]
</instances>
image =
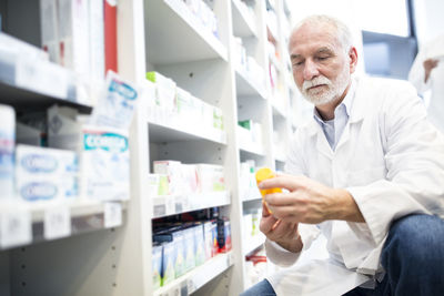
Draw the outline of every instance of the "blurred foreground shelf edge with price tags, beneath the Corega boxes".
<instances>
[{"instance_id":1,"label":"blurred foreground shelf edge with price tags, beneath the Corega boxes","mask_svg":"<svg viewBox=\"0 0 444 296\"><path fill-rule=\"evenodd\" d=\"M127 202L3 202L0 249L120 226Z\"/></svg>"}]
</instances>

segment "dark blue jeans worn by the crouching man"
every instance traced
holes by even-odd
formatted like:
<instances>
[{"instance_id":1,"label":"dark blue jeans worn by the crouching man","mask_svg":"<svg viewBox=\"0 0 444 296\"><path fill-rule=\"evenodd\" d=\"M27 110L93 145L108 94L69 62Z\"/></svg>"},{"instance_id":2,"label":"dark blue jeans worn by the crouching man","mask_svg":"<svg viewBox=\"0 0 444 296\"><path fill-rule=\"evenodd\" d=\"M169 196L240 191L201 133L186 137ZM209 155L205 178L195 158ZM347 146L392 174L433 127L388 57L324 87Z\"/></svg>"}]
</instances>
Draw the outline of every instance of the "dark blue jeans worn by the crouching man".
<instances>
[{"instance_id":1,"label":"dark blue jeans worn by the crouching man","mask_svg":"<svg viewBox=\"0 0 444 296\"><path fill-rule=\"evenodd\" d=\"M431 215L408 215L395 221L381 264L386 274L375 289L356 287L344 296L444 295L444 221ZM242 296L276 295L264 282Z\"/></svg>"}]
</instances>

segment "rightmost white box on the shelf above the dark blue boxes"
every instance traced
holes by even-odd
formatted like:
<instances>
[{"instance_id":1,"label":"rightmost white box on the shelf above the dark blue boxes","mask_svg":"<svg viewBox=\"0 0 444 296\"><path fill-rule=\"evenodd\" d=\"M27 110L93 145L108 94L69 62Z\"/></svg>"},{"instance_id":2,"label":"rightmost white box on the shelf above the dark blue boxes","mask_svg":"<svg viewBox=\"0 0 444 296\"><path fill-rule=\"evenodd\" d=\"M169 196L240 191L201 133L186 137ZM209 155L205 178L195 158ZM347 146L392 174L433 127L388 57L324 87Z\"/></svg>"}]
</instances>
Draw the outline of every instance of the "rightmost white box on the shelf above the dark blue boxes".
<instances>
[{"instance_id":1,"label":"rightmost white box on the shelf above the dark blue boxes","mask_svg":"<svg viewBox=\"0 0 444 296\"><path fill-rule=\"evenodd\" d=\"M225 190L224 170L222 165L196 164L199 191L220 192Z\"/></svg>"}]
</instances>

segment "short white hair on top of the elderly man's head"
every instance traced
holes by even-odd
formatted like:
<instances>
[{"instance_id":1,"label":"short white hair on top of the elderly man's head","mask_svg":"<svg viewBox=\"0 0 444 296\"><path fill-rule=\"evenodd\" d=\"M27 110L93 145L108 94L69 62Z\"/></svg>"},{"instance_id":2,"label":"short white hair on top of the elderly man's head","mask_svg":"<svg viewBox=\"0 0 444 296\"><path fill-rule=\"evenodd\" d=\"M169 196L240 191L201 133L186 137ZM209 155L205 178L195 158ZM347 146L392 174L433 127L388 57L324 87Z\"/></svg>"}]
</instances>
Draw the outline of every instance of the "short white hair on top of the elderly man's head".
<instances>
[{"instance_id":1,"label":"short white hair on top of the elderly man's head","mask_svg":"<svg viewBox=\"0 0 444 296\"><path fill-rule=\"evenodd\" d=\"M353 44L353 38L349 27L334 17L326 14L306 17L293 28L292 34L304 24L330 24L336 30L337 39L345 51L349 51Z\"/></svg>"}]
</instances>

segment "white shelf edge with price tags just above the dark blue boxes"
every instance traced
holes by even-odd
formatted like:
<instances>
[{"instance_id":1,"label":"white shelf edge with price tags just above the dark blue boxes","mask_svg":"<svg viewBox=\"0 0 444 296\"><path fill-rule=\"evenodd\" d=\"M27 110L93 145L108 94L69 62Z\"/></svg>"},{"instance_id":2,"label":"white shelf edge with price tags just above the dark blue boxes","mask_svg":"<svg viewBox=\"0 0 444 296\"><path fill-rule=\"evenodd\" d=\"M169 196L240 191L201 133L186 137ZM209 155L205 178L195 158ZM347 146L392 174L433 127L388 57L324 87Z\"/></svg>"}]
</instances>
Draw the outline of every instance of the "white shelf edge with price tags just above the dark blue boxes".
<instances>
[{"instance_id":1,"label":"white shelf edge with price tags just above the dark blue boxes","mask_svg":"<svg viewBox=\"0 0 444 296\"><path fill-rule=\"evenodd\" d=\"M150 197L148 197L150 198ZM153 218L231 204L229 192L153 197Z\"/></svg>"}]
</instances>

